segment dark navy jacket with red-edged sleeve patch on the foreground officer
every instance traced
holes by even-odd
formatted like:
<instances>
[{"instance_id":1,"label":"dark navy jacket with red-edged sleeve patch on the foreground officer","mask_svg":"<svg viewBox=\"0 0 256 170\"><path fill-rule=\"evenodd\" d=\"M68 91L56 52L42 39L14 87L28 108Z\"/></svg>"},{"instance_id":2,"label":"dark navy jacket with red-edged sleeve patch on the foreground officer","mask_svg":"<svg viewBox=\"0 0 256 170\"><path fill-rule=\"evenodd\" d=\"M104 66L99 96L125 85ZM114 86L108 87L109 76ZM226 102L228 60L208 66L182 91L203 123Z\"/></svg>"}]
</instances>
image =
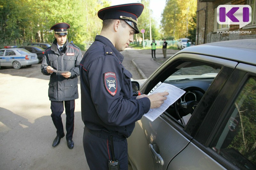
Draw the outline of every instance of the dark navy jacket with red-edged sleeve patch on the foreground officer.
<instances>
[{"instance_id":1,"label":"dark navy jacket with red-edged sleeve patch on the foreground officer","mask_svg":"<svg viewBox=\"0 0 256 170\"><path fill-rule=\"evenodd\" d=\"M88 130L100 138L128 138L150 108L148 97L133 99L132 74L124 56L105 37L97 35L80 63L81 112Z\"/></svg>"}]
</instances>

